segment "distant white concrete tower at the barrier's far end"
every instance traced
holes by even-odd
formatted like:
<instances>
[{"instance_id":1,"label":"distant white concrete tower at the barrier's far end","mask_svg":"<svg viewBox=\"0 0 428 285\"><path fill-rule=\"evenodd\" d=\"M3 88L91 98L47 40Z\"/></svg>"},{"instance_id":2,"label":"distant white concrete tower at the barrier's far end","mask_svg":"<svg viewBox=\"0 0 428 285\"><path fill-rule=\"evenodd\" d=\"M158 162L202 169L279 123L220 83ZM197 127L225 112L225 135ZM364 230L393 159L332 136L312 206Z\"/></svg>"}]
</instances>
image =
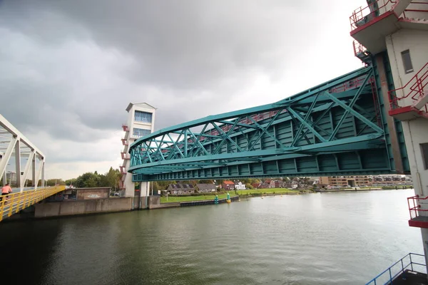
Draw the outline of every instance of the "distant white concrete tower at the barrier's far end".
<instances>
[{"instance_id":1,"label":"distant white concrete tower at the barrier's far end","mask_svg":"<svg viewBox=\"0 0 428 285\"><path fill-rule=\"evenodd\" d=\"M143 136L153 133L155 126L156 108L148 103L129 103L126 108L128 112L128 122L122 125L125 132L122 138L123 150L121 152L123 164L121 165L121 190L124 191L125 197L145 197L150 189L149 182L141 182L141 187L135 190L135 183L132 182L132 173L128 172L130 166L130 156L128 153L129 146L142 138Z\"/></svg>"}]
</instances>

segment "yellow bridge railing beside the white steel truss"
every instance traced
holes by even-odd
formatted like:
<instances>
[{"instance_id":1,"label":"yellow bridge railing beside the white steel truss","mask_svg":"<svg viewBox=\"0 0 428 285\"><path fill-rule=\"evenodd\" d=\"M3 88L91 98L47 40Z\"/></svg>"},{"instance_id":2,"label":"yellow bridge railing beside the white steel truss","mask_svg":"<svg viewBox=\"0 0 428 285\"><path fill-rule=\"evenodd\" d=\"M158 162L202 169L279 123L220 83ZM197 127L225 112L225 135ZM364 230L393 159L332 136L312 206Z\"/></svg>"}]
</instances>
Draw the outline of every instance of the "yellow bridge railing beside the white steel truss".
<instances>
[{"instance_id":1,"label":"yellow bridge railing beside the white steel truss","mask_svg":"<svg viewBox=\"0 0 428 285\"><path fill-rule=\"evenodd\" d=\"M55 186L2 195L0 201L0 221L64 189L65 186Z\"/></svg>"}]
</instances>

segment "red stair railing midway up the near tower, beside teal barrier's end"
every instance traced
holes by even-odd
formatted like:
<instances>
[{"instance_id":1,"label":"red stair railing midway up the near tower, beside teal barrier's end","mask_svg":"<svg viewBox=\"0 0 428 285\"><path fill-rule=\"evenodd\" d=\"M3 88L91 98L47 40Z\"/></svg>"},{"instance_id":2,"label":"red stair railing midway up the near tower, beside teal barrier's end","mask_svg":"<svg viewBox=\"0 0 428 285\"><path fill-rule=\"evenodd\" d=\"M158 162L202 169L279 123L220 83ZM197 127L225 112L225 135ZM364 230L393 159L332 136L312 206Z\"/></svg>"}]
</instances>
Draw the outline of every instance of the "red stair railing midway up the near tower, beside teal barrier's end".
<instances>
[{"instance_id":1,"label":"red stair railing midway up the near tower, beside teal barrier's end","mask_svg":"<svg viewBox=\"0 0 428 285\"><path fill-rule=\"evenodd\" d=\"M427 87L427 85L428 85L428 63L425 63L425 65L412 77L412 79L410 79L406 83L405 86L388 91L389 104L391 109L399 108L400 107L399 100L403 100L404 98L410 97L412 98L412 100L419 99L419 97L423 95L424 89ZM405 92L404 89L409 90L407 94L402 95L402 97L398 97L397 91L402 90L404 93ZM427 105L424 106L424 111L428 112Z\"/></svg>"}]
</instances>

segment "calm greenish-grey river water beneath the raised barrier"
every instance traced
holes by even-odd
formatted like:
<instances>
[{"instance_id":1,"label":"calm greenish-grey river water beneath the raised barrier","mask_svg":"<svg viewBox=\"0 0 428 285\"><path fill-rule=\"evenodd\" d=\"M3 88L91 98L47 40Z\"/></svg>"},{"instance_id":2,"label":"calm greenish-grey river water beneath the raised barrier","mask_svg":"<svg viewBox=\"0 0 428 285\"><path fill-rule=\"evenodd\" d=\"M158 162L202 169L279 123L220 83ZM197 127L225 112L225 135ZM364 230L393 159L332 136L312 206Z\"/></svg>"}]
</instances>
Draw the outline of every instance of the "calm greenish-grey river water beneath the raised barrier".
<instances>
[{"instance_id":1,"label":"calm greenish-grey river water beneath the raised barrier","mask_svg":"<svg viewBox=\"0 0 428 285\"><path fill-rule=\"evenodd\" d=\"M13 284L365 284L409 252L413 190L242 199L0 224Z\"/></svg>"}]
</instances>

